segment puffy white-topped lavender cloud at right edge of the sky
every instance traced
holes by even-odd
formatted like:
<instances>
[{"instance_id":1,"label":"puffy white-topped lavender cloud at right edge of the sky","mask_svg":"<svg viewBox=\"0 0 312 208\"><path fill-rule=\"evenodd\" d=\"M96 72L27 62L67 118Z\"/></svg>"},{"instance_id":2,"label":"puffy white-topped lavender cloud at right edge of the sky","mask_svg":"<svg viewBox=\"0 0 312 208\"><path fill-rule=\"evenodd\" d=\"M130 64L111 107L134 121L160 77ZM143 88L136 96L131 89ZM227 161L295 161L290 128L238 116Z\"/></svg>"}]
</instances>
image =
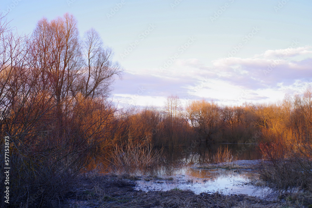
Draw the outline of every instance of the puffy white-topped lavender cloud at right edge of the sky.
<instances>
[{"instance_id":1,"label":"puffy white-topped lavender cloud at right edge of the sky","mask_svg":"<svg viewBox=\"0 0 312 208\"><path fill-rule=\"evenodd\" d=\"M311 47L300 47L292 49L292 54L307 55ZM285 49L287 50L287 49ZM266 51L263 56L256 55L253 58L226 58L212 62L213 68L219 69L219 79L230 82L233 85L245 89L276 88L279 83L290 85L295 80L303 80L312 77L312 58L289 57L272 58L273 54L279 55L284 50L276 50L275 53ZM270 54L270 58L265 58Z\"/></svg>"}]
</instances>

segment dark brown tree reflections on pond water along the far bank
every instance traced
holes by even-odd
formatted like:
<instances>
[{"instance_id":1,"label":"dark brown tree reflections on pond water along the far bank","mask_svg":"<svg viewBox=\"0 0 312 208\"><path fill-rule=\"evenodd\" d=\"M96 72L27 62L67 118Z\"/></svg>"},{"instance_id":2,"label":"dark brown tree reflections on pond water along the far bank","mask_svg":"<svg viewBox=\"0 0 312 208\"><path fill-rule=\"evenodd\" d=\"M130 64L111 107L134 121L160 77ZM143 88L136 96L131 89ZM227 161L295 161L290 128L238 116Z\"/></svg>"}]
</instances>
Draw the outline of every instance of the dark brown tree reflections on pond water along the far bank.
<instances>
[{"instance_id":1,"label":"dark brown tree reflections on pond water along the far bank","mask_svg":"<svg viewBox=\"0 0 312 208\"><path fill-rule=\"evenodd\" d=\"M158 162L153 166L131 166L131 164L114 165L111 156L97 158L90 163L87 170L100 170L100 173L134 174L134 175L174 175L178 167L185 167L196 164L214 164L232 160L256 160L262 155L254 144L211 144L209 147L188 147L174 149L156 149L160 154ZM221 153L220 153L221 150ZM224 150L228 150L227 154ZM221 156L222 155L222 156ZM226 156L224 156L226 155ZM120 157L123 157L120 155ZM227 157L227 158L221 158ZM143 158L142 158L143 159Z\"/></svg>"}]
</instances>

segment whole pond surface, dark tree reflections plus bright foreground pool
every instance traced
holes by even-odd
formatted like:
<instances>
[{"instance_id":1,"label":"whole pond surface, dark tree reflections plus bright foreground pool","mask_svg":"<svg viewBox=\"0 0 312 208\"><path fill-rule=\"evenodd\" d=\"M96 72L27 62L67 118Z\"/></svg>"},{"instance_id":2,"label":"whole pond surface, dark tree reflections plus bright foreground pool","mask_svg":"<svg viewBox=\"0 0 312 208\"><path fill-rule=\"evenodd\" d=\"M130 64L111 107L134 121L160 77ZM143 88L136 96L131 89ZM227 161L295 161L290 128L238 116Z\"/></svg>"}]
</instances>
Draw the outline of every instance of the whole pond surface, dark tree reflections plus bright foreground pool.
<instances>
[{"instance_id":1,"label":"whole pond surface, dark tree reflections plus bright foreground pool","mask_svg":"<svg viewBox=\"0 0 312 208\"><path fill-rule=\"evenodd\" d=\"M229 150L221 154L220 150ZM157 150L156 150L157 151ZM171 190L173 188L190 189L195 193L216 192L223 194L247 194L251 196L266 196L269 189L256 187L249 183L249 178L255 178L252 170L234 172L224 169L200 169L198 165L213 164L220 162L220 157L228 157L231 161L251 161L261 159L262 155L253 144L211 144L209 147L162 149L160 161L153 167L131 168L129 166L115 167L108 165L102 168L101 173L115 172L117 174L134 174L137 176L173 177L173 181L152 180L137 181L136 189ZM224 156L225 155L225 156ZM224 158L223 158L224 159ZM108 161L108 160L106 160Z\"/></svg>"}]
</instances>

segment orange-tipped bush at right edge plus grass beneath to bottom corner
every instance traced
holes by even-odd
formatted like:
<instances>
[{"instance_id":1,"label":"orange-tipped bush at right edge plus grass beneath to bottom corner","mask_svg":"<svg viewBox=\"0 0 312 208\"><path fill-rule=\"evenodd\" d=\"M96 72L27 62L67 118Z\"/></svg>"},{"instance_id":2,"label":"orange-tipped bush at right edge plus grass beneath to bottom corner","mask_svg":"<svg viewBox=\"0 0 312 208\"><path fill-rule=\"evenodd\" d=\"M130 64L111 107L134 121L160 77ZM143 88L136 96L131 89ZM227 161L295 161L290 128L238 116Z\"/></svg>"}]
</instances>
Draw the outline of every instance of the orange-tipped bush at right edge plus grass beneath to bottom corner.
<instances>
[{"instance_id":1,"label":"orange-tipped bush at right edge plus grass beneath to bottom corner","mask_svg":"<svg viewBox=\"0 0 312 208\"><path fill-rule=\"evenodd\" d=\"M274 142L260 145L265 159L260 164L260 179L282 199L312 207L312 145L301 138L303 129L293 132L264 134Z\"/></svg>"}]
</instances>

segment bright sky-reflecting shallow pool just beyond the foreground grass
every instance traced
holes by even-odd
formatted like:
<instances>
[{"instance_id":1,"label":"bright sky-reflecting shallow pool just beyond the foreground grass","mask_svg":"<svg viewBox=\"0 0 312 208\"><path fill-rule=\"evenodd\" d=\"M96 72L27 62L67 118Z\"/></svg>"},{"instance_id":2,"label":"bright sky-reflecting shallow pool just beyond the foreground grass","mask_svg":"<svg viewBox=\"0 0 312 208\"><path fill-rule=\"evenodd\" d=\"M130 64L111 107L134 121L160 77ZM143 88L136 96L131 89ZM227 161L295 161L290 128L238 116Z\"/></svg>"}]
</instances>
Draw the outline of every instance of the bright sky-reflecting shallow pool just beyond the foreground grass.
<instances>
[{"instance_id":1,"label":"bright sky-reflecting shallow pool just beyond the foreground grass","mask_svg":"<svg viewBox=\"0 0 312 208\"><path fill-rule=\"evenodd\" d=\"M236 161L235 164L253 165L259 162ZM267 187L255 186L250 183L250 178L257 178L256 173L250 168L237 170L226 170L222 168L203 169L198 166L184 166L174 168L173 174L162 175L164 180L154 179L151 181L137 181L136 190L142 191L168 191L174 188L181 190L191 190L196 194L202 192L223 193L223 194L246 194L265 198L271 193ZM173 180L165 180L172 177Z\"/></svg>"}]
</instances>

